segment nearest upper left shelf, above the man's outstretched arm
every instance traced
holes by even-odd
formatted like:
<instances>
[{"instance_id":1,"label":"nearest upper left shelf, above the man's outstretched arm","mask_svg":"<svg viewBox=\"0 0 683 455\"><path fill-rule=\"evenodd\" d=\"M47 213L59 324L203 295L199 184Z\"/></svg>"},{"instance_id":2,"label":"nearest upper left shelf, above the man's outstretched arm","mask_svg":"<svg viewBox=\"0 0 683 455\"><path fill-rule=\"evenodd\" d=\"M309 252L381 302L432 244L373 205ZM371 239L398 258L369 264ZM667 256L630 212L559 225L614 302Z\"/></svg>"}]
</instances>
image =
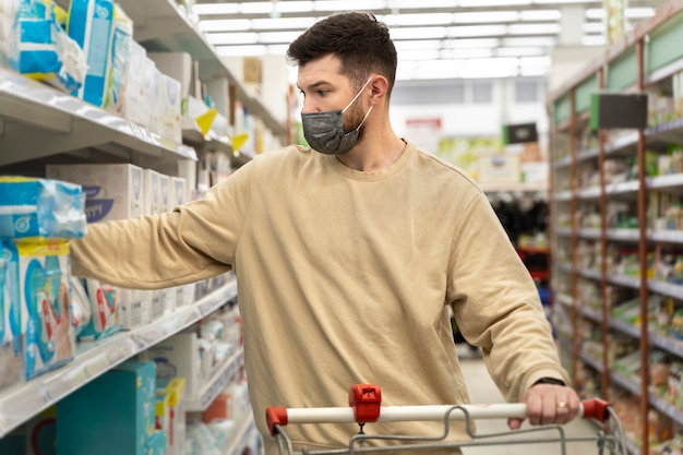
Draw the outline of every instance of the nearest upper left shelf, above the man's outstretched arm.
<instances>
[{"instance_id":1,"label":"nearest upper left shelf, above the man's outstretched arm","mask_svg":"<svg viewBox=\"0 0 683 455\"><path fill-rule=\"evenodd\" d=\"M0 166L83 148L163 163L197 159L192 147L5 69L0 69Z\"/></svg>"}]
</instances>

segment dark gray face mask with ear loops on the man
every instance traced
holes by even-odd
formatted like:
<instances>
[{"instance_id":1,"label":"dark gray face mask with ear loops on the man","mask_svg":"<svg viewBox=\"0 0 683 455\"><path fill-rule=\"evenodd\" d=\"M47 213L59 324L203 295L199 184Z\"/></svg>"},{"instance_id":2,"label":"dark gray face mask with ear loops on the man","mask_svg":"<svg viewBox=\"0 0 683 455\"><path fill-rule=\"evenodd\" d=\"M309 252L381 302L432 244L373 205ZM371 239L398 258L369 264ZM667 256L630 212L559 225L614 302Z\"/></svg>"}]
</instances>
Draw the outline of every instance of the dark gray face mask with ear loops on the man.
<instances>
[{"instance_id":1,"label":"dark gray face mask with ear loops on the man","mask_svg":"<svg viewBox=\"0 0 683 455\"><path fill-rule=\"evenodd\" d=\"M372 79L369 79L368 82L366 82L366 85L363 85L360 92L356 94L354 99L351 99L344 109L301 113L303 136L311 148L326 155L342 155L354 148L358 142L360 127L366 122L366 119L372 110L372 106L370 106L370 109L366 112L366 117L363 117L360 124L348 133L344 132L344 112L358 99L371 80Z\"/></svg>"}]
</instances>

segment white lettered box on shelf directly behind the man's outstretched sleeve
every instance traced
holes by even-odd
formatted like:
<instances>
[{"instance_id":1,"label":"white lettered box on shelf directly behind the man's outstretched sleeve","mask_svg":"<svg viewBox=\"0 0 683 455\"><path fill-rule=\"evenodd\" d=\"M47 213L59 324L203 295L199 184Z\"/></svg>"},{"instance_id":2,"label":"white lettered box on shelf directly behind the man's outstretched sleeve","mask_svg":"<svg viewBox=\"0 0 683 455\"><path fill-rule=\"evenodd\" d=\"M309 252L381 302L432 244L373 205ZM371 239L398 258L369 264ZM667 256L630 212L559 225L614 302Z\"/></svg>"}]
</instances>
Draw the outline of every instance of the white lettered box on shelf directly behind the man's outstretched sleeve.
<instances>
[{"instance_id":1,"label":"white lettered box on shelf directly behind the man's outstretched sleeve","mask_svg":"<svg viewBox=\"0 0 683 455\"><path fill-rule=\"evenodd\" d=\"M46 175L81 184L88 223L135 218L144 214L143 170L131 164L48 165ZM59 176L59 177L58 177ZM125 328L147 324L149 300L137 289L119 289Z\"/></svg>"}]
</instances>

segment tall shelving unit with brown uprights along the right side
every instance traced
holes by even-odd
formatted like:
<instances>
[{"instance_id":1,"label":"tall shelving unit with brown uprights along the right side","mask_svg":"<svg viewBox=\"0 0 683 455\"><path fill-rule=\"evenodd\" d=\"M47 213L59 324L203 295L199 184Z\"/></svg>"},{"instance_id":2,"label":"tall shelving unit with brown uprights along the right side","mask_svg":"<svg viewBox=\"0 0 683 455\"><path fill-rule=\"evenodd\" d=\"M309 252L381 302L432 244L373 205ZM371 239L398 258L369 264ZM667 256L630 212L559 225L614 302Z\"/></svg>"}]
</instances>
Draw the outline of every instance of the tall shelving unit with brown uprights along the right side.
<instances>
[{"instance_id":1,"label":"tall shelving unit with brown uprights along the right side","mask_svg":"<svg viewBox=\"0 0 683 455\"><path fill-rule=\"evenodd\" d=\"M607 399L612 390L637 398L642 444L631 444L631 450L643 454L650 450L647 422L652 409L675 429L683 427L683 406L650 387L652 351L681 361L683 342L658 330L649 308L654 296L683 300L683 286L657 276L652 266L664 251L683 250L683 230L656 227L658 207L650 201L655 193L682 194L683 173L648 173L651 156L664 154L668 144L683 143L683 120L652 116L644 130L591 131L589 110L591 95L600 92L671 93L672 79L683 70L682 32L683 1L669 1L549 99L552 287L562 303L560 319L571 321L573 330L567 334L568 368L578 390L584 386L578 371L587 367ZM620 168L621 173L615 170ZM614 316L613 310L630 300L638 302L636 322ZM586 325L601 339L601 358L583 349ZM616 336L637 346L637 375L615 370ZM566 346L567 339L562 343Z\"/></svg>"}]
</instances>

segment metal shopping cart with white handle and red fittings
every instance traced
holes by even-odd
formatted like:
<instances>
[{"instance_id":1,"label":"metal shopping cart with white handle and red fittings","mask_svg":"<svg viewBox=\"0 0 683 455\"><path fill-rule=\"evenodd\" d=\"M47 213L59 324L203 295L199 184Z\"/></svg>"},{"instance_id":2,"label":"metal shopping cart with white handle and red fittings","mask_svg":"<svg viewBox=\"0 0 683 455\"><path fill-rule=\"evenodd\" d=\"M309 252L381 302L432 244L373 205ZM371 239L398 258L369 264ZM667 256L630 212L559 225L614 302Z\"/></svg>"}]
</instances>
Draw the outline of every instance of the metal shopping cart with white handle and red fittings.
<instances>
[{"instance_id":1,"label":"metal shopping cart with white handle and red fittings","mask_svg":"<svg viewBox=\"0 0 683 455\"><path fill-rule=\"evenodd\" d=\"M479 419L526 418L524 404L496 405L443 405L443 406L382 406L382 391L374 384L357 384L349 390L348 407L284 408L268 407L266 421L275 438L280 455L337 455L367 453L419 453L434 448L457 451L464 447L508 444L559 445L559 453L566 455L567 445L577 442L595 442L598 454L627 455L624 430L619 417L609 405L598 398L582 402L580 416L592 419L598 426L589 436L567 436L562 426L534 427L504 433L476 434L474 422ZM410 422L443 420L443 433L436 436L366 434L363 427L370 422ZM463 420L467 430L466 441L448 441L450 421ZM358 423L359 432L349 435L348 446L339 450L301 451L292 444L284 427L297 423ZM386 445L370 446L370 440L384 441Z\"/></svg>"}]
</instances>

